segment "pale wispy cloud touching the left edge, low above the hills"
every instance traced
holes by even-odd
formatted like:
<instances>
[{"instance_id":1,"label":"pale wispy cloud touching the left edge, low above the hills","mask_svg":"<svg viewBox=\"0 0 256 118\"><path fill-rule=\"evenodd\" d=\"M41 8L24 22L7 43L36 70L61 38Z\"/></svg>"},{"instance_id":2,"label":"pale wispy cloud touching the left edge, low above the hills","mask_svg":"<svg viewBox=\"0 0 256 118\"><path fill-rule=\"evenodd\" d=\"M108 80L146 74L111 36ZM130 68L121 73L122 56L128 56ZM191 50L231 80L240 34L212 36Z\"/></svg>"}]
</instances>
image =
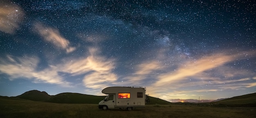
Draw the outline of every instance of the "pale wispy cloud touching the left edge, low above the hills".
<instances>
[{"instance_id":1,"label":"pale wispy cloud touching the left edge, low above the hills","mask_svg":"<svg viewBox=\"0 0 256 118\"><path fill-rule=\"evenodd\" d=\"M55 66L50 66L45 70L36 71L39 59L37 57L13 57L7 55L6 59L0 60L0 72L8 74L10 80L28 79L34 83L51 83L61 86L70 86L69 82L63 81L58 76Z\"/></svg>"}]
</instances>

